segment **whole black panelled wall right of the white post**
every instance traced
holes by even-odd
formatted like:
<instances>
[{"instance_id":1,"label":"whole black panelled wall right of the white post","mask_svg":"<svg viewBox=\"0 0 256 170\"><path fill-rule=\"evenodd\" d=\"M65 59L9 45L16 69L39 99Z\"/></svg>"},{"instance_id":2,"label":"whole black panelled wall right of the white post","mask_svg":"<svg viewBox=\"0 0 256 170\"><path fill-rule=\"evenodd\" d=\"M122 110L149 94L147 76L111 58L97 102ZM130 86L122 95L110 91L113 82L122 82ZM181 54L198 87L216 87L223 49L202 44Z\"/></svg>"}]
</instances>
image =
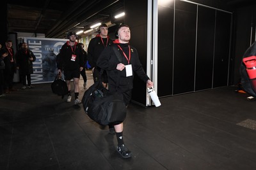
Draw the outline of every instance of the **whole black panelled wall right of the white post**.
<instances>
[{"instance_id":1,"label":"whole black panelled wall right of the white post","mask_svg":"<svg viewBox=\"0 0 256 170\"><path fill-rule=\"evenodd\" d=\"M159 97L228 85L232 13L170 2L158 6Z\"/></svg>"}]
</instances>

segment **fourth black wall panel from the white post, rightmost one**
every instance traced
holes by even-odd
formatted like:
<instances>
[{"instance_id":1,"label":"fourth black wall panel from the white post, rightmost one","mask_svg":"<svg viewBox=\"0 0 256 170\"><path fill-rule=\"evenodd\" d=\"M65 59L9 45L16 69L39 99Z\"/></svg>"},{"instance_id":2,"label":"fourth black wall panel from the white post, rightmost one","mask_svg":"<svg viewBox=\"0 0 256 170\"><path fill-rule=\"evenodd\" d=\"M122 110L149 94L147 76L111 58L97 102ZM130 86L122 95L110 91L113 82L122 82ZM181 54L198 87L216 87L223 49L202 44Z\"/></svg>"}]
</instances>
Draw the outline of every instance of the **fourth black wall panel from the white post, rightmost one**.
<instances>
[{"instance_id":1,"label":"fourth black wall panel from the white post, rightmost one","mask_svg":"<svg viewBox=\"0 0 256 170\"><path fill-rule=\"evenodd\" d=\"M216 12L213 87L228 85L231 18L232 15L230 13Z\"/></svg>"}]
</instances>

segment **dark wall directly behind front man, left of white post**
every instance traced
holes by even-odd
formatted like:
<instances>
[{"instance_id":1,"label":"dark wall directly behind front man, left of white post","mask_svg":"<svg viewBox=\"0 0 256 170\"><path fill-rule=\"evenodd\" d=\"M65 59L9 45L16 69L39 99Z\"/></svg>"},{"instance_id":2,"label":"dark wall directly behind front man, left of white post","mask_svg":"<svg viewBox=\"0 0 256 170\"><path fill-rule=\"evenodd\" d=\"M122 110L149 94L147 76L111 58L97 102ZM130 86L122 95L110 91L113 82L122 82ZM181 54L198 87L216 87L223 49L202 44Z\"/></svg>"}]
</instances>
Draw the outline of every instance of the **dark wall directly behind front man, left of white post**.
<instances>
[{"instance_id":1,"label":"dark wall directly behind front man, left of white post","mask_svg":"<svg viewBox=\"0 0 256 170\"><path fill-rule=\"evenodd\" d=\"M136 4L136 8L134 8ZM141 64L147 71L147 0L125 0L125 24L131 29L131 45L138 50ZM149 76L149 75L148 75ZM146 84L137 76L134 78L132 101L146 105Z\"/></svg>"}]
</instances>

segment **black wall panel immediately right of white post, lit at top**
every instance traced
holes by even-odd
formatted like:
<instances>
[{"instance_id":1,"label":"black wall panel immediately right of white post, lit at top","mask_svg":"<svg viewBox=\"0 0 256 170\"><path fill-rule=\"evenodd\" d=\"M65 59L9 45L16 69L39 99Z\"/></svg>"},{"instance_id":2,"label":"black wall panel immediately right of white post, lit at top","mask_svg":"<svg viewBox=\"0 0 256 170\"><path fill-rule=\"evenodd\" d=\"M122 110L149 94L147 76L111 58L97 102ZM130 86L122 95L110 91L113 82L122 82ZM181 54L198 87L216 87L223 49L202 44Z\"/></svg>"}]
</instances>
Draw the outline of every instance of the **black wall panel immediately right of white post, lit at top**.
<instances>
[{"instance_id":1,"label":"black wall panel immediately right of white post, lit at top","mask_svg":"<svg viewBox=\"0 0 256 170\"><path fill-rule=\"evenodd\" d=\"M158 6L157 95L172 95L173 73L173 6Z\"/></svg>"}]
</instances>

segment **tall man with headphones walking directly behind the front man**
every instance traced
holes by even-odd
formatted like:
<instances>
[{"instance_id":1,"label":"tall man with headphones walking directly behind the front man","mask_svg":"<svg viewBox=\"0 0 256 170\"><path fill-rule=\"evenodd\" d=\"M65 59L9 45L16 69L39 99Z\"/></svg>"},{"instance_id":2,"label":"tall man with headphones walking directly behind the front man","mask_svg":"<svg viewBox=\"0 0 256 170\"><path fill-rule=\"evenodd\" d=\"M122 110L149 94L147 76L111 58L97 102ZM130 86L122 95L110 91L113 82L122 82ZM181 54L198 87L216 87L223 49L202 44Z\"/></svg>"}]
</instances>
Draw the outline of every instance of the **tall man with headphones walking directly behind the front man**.
<instances>
[{"instance_id":1,"label":"tall man with headphones walking directly behind the front man","mask_svg":"<svg viewBox=\"0 0 256 170\"><path fill-rule=\"evenodd\" d=\"M100 53L109 45L111 45L112 40L108 36L108 25L101 24L99 26L97 36L91 39L88 45L88 62L92 68L93 81L96 82L101 78L104 87L108 86L108 76L106 71L100 74L100 67L97 66L97 60L99 59ZM109 133L115 134L115 129L113 125L109 125Z\"/></svg>"}]
</instances>

